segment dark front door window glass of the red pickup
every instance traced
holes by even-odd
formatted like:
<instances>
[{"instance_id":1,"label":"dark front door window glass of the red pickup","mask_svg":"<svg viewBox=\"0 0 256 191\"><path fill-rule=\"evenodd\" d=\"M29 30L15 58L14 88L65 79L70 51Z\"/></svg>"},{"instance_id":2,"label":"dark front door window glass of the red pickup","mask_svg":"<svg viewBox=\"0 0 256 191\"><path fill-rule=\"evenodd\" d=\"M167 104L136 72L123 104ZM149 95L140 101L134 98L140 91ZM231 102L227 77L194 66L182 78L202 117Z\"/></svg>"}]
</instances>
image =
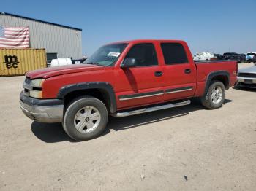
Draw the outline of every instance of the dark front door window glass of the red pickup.
<instances>
[{"instance_id":1,"label":"dark front door window glass of the red pickup","mask_svg":"<svg viewBox=\"0 0 256 191\"><path fill-rule=\"evenodd\" d=\"M125 58L135 58L137 66L155 66L157 62L157 52L154 44L135 44L127 53Z\"/></svg>"}]
</instances>

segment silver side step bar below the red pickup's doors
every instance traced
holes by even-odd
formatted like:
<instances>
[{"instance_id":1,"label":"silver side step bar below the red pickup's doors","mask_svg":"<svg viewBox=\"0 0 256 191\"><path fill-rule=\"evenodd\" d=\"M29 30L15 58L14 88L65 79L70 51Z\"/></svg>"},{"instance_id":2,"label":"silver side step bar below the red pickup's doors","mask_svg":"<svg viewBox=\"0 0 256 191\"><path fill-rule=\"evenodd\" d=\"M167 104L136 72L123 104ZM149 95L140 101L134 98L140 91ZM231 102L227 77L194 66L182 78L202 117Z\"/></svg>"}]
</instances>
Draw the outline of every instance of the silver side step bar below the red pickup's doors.
<instances>
[{"instance_id":1,"label":"silver side step bar below the red pickup's doors","mask_svg":"<svg viewBox=\"0 0 256 191\"><path fill-rule=\"evenodd\" d=\"M129 111L129 112L118 112L116 114L112 114L112 116L113 117L127 117L127 116L130 116L130 115L143 114L143 113L147 113L147 112L154 112L154 111L157 111L157 110L169 109L169 108L173 108L173 107L177 107L177 106L186 106L186 105L189 105L190 103L191 103L191 101L187 100L187 101L182 101L182 102L178 102L178 103L174 103L174 104L166 104L166 105L162 105L162 106L152 106L152 107L133 110L133 111Z\"/></svg>"}]
</instances>

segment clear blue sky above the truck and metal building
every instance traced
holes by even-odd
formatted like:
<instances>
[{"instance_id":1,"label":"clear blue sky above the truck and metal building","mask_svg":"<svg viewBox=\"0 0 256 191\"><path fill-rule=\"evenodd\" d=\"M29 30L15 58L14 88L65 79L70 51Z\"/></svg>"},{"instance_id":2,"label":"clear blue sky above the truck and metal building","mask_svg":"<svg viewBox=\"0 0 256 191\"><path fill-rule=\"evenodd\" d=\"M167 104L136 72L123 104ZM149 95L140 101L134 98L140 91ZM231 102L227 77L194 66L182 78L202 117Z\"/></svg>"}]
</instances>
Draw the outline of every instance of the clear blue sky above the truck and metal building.
<instances>
[{"instance_id":1,"label":"clear blue sky above the truck and metal building","mask_svg":"<svg viewBox=\"0 0 256 191\"><path fill-rule=\"evenodd\" d=\"M86 56L129 39L181 39L193 54L256 52L256 0L1 0L0 12L82 28Z\"/></svg>"}]
</instances>

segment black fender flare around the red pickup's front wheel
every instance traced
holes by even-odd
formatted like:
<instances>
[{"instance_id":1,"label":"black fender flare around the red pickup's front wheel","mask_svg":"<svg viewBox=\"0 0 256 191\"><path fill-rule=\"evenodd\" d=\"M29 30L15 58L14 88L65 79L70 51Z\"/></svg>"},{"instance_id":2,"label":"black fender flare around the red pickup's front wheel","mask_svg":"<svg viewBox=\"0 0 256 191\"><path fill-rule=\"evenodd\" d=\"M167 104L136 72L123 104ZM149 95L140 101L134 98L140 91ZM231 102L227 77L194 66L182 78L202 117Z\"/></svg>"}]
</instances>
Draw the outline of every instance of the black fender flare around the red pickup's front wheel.
<instances>
[{"instance_id":1,"label":"black fender flare around the red pickup's front wheel","mask_svg":"<svg viewBox=\"0 0 256 191\"><path fill-rule=\"evenodd\" d=\"M108 82L82 82L78 84L72 84L72 85L67 85L64 87L61 87L59 90L59 93L57 95L57 98L59 99L64 99L64 97L68 93L72 93L74 91L78 90L90 90L90 89L97 89L97 90L102 90L105 93L108 93L109 99L110 99L110 113L115 113L116 112L116 95L115 91Z\"/></svg>"}]
</instances>

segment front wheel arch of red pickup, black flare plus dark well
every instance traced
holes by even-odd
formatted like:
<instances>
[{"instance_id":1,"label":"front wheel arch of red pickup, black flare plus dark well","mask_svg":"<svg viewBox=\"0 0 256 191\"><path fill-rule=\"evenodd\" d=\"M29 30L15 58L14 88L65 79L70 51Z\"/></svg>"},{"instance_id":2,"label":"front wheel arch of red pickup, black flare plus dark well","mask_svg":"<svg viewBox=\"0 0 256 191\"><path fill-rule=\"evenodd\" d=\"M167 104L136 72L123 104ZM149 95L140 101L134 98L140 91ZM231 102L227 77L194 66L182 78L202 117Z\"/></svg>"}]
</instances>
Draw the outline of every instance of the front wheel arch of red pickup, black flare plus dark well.
<instances>
[{"instance_id":1,"label":"front wheel arch of red pickup, black flare plus dark well","mask_svg":"<svg viewBox=\"0 0 256 191\"><path fill-rule=\"evenodd\" d=\"M82 95L91 95L101 100L107 107L108 112L116 112L116 95L112 85L108 82L83 82L61 87L57 98L63 99L67 104L74 98Z\"/></svg>"}]
</instances>

